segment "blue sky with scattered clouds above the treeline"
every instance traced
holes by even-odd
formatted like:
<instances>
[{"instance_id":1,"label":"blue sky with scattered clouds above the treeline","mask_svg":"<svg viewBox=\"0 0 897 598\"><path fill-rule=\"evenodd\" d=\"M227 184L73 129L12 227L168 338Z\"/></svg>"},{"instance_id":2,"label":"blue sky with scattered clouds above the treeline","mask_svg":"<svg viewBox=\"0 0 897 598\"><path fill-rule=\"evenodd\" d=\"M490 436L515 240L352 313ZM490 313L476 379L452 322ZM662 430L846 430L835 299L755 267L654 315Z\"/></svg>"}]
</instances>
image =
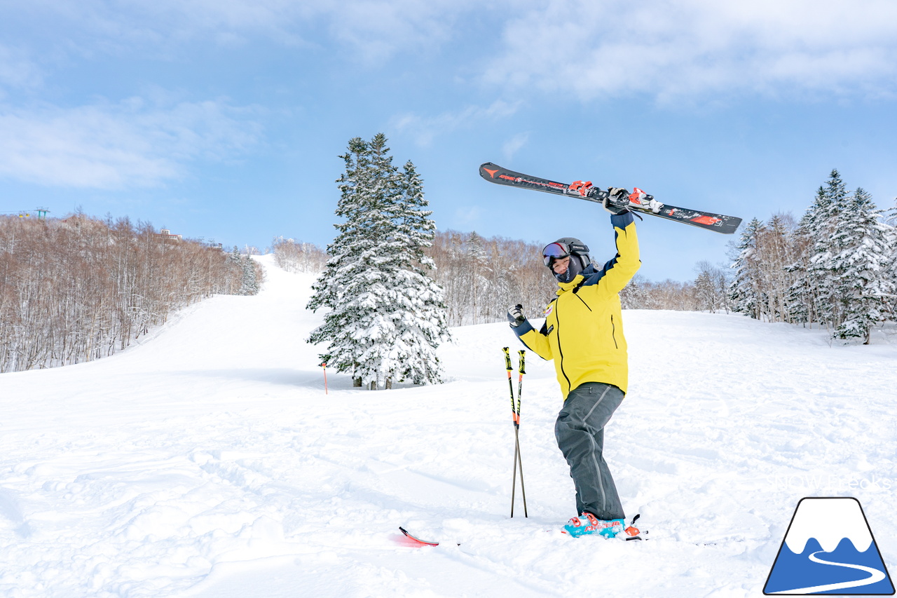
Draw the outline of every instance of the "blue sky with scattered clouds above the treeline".
<instances>
[{"instance_id":1,"label":"blue sky with scattered clouds above the treeline","mask_svg":"<svg viewBox=\"0 0 897 598\"><path fill-rule=\"evenodd\" d=\"M383 132L440 229L606 259L600 207L479 164L745 219L837 168L893 207L895 92L891 0L0 0L0 212L323 246L339 154ZM692 279L730 239L646 218L641 272Z\"/></svg>"}]
</instances>

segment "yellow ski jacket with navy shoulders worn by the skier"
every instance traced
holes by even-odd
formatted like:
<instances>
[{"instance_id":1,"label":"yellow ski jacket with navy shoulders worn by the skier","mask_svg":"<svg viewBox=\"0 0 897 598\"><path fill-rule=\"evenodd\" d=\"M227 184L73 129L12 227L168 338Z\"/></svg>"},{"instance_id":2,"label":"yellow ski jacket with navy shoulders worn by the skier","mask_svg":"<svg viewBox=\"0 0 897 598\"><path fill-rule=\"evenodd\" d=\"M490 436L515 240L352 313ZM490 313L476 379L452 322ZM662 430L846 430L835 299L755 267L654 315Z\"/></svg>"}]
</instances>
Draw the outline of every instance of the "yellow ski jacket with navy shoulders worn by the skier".
<instances>
[{"instance_id":1,"label":"yellow ski jacket with navy shoulders worn by the skier","mask_svg":"<svg viewBox=\"0 0 897 598\"><path fill-rule=\"evenodd\" d=\"M564 400L582 383L614 384L623 393L629 380L620 291L641 261L631 212L611 216L617 254L604 268L588 266L569 283L558 283L557 298L545 309L542 330L524 321L517 333L543 359L554 360Z\"/></svg>"}]
</instances>

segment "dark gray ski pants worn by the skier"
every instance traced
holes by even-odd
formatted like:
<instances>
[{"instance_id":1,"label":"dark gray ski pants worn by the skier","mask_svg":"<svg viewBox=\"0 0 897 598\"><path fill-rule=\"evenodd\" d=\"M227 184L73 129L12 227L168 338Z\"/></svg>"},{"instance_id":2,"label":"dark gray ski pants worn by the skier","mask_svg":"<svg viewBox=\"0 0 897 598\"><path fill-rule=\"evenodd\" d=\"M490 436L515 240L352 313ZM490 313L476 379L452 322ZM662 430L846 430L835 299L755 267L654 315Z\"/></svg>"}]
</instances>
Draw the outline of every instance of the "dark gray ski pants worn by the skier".
<instances>
[{"instance_id":1,"label":"dark gray ski pants worn by the skier","mask_svg":"<svg viewBox=\"0 0 897 598\"><path fill-rule=\"evenodd\" d=\"M570 465L578 514L623 519L623 505L604 458L605 426L623 401L612 384L584 383L567 395L554 423L554 437Z\"/></svg>"}]
</instances>

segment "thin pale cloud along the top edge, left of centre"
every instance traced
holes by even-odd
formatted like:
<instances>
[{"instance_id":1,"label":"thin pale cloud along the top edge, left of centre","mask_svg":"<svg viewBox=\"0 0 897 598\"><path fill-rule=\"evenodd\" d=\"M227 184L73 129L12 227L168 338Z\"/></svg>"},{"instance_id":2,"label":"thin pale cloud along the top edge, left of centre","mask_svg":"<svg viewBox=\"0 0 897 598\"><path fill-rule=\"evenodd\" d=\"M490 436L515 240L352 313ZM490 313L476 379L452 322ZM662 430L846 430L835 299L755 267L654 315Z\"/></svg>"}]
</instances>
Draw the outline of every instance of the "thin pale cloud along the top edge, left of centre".
<instances>
[{"instance_id":1,"label":"thin pale cloud along the top edge, left of centre","mask_svg":"<svg viewBox=\"0 0 897 598\"><path fill-rule=\"evenodd\" d=\"M436 48L478 6L473 0L34 0L30 12L36 22L61 23L66 42L82 52L170 54L190 40L239 45L261 38L348 49L375 63Z\"/></svg>"}]
</instances>

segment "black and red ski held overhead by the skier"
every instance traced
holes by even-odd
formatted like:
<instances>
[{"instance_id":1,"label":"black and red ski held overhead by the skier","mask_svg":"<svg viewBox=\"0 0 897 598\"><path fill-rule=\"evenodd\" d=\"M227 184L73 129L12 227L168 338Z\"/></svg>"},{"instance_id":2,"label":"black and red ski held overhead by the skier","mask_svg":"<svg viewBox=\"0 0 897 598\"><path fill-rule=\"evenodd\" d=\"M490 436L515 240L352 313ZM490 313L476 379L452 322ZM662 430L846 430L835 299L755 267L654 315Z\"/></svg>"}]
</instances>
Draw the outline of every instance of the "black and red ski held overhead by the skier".
<instances>
[{"instance_id":1,"label":"black and red ski held overhead by the skier","mask_svg":"<svg viewBox=\"0 0 897 598\"><path fill-rule=\"evenodd\" d=\"M544 191L545 193L563 195L569 198L586 199L599 204L608 201L614 207L625 207L640 214L656 215L659 218L690 224L714 233L732 234L736 232L738 225L741 224L741 218L737 216L715 214L687 207L676 207L652 202L653 196L646 194L639 188L635 188L632 193L623 189L625 192L616 193L612 196L605 189L593 187L589 180L562 183L555 180L540 179L521 172L509 171L507 168L502 168L498 164L491 162L480 166L480 176L489 182L517 187L518 189Z\"/></svg>"}]
</instances>

